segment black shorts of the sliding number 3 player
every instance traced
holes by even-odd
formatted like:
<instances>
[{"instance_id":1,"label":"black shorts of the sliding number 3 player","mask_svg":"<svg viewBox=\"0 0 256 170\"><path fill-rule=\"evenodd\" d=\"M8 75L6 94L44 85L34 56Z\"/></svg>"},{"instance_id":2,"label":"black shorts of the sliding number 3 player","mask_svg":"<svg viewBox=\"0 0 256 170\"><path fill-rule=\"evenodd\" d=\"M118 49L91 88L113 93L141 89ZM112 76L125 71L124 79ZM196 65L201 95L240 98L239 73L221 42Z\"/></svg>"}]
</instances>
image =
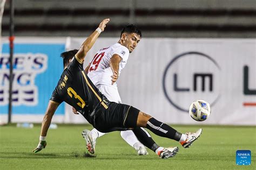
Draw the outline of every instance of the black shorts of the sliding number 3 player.
<instances>
[{"instance_id":1,"label":"black shorts of the sliding number 3 player","mask_svg":"<svg viewBox=\"0 0 256 170\"><path fill-rule=\"evenodd\" d=\"M137 126L138 115L139 110L130 105L110 102L109 108L95 110L90 123L100 132L124 131Z\"/></svg>"}]
</instances>

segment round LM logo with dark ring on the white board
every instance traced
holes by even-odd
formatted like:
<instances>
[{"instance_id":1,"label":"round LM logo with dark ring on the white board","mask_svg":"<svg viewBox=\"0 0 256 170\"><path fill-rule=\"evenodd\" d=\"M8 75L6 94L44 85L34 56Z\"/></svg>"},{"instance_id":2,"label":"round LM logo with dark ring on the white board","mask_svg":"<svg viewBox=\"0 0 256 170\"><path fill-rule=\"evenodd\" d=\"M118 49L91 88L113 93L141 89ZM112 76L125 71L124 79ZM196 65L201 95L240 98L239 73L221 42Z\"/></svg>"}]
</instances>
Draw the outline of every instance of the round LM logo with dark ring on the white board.
<instances>
[{"instance_id":1,"label":"round LM logo with dark ring on the white board","mask_svg":"<svg viewBox=\"0 0 256 170\"><path fill-rule=\"evenodd\" d=\"M220 66L211 56L193 51L181 53L165 68L164 94L173 107L184 112L188 112L187 106L194 98L204 98L214 105L220 97L219 79ZM177 102L177 98L183 102Z\"/></svg>"}]
</instances>

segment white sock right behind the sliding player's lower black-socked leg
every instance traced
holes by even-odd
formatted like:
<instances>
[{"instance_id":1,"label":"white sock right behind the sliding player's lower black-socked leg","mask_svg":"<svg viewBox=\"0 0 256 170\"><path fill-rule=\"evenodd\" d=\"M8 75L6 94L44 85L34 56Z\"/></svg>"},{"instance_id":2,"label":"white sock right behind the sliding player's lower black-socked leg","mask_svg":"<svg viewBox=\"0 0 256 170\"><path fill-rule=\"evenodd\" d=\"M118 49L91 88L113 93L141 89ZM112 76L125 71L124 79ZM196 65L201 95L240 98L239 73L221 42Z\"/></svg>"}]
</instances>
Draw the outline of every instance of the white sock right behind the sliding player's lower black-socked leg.
<instances>
[{"instance_id":1,"label":"white sock right behind the sliding player's lower black-socked leg","mask_svg":"<svg viewBox=\"0 0 256 170\"><path fill-rule=\"evenodd\" d=\"M139 149L140 146L144 147L144 145L139 142L133 131L120 131L120 134L122 138L127 142L127 144L129 144L131 147L134 147L136 151Z\"/></svg>"}]
</instances>

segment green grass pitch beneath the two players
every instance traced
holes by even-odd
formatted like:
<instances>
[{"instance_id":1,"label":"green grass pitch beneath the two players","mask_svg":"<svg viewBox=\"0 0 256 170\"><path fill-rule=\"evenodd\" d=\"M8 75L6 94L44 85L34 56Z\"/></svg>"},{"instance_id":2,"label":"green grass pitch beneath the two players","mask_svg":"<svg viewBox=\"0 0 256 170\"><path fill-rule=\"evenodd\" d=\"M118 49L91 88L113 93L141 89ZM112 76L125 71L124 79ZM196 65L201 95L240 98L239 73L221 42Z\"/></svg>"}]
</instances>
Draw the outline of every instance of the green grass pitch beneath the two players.
<instances>
[{"instance_id":1,"label":"green grass pitch beneath the two players","mask_svg":"<svg viewBox=\"0 0 256 170\"><path fill-rule=\"evenodd\" d=\"M154 152L138 156L137 152L111 132L97 140L96 156L85 157L86 147L81 132L90 125L58 125L49 129L48 145L33 153L38 144L39 125L32 129L0 126L0 169L256 169L255 126L201 126L203 134L190 148L177 141L157 137L160 146L179 146L176 157L160 159ZM180 132L194 131L199 126L173 125ZM252 164L235 164L237 150L251 150Z\"/></svg>"}]
</instances>

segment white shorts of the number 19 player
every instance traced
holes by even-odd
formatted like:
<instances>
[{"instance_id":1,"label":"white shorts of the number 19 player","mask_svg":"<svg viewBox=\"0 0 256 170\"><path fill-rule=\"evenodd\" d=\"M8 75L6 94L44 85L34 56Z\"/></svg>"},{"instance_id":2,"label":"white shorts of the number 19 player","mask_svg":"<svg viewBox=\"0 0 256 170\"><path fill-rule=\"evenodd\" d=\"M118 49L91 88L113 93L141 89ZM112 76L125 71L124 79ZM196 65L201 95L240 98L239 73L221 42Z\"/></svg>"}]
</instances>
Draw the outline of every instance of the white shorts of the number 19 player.
<instances>
[{"instance_id":1,"label":"white shorts of the number 19 player","mask_svg":"<svg viewBox=\"0 0 256 170\"><path fill-rule=\"evenodd\" d=\"M99 91L104 94L106 96L106 98L110 101L110 102L115 102L115 103L122 103L122 100L120 98L120 95L118 93L118 89L117 88L113 88L111 86L106 86L104 84L99 84L98 86L96 86Z\"/></svg>"}]
</instances>

